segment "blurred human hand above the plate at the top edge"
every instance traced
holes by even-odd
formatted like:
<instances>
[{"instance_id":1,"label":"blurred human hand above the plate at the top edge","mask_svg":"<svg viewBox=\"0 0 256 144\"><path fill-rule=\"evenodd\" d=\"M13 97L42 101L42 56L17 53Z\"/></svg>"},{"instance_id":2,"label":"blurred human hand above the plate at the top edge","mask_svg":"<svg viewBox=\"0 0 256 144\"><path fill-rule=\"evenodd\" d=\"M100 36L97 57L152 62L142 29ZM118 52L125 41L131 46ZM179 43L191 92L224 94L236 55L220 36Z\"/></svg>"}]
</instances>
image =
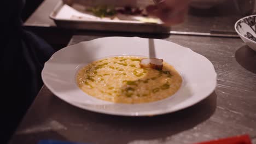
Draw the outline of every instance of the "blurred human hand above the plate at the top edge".
<instances>
[{"instance_id":1,"label":"blurred human hand above the plate at the top edge","mask_svg":"<svg viewBox=\"0 0 256 144\"><path fill-rule=\"evenodd\" d=\"M159 17L166 26L177 25L184 21L188 12L190 0L154 0L155 5L149 5L149 15Z\"/></svg>"}]
</instances>

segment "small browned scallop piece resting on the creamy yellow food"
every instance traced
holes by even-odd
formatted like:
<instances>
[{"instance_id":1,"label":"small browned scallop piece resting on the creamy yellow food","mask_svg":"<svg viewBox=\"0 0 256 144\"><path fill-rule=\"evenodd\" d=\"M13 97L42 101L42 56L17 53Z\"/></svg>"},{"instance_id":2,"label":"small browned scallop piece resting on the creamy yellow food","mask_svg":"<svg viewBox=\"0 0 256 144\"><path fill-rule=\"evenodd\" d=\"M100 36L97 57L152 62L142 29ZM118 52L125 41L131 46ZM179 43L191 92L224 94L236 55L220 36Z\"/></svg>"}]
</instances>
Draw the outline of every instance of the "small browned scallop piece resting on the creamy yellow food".
<instances>
[{"instance_id":1,"label":"small browned scallop piece resting on the creamy yellow food","mask_svg":"<svg viewBox=\"0 0 256 144\"><path fill-rule=\"evenodd\" d=\"M139 63L139 65L141 65L142 68L152 68L161 70L162 62L163 60L158 58L143 58L141 59L141 63Z\"/></svg>"}]
</instances>

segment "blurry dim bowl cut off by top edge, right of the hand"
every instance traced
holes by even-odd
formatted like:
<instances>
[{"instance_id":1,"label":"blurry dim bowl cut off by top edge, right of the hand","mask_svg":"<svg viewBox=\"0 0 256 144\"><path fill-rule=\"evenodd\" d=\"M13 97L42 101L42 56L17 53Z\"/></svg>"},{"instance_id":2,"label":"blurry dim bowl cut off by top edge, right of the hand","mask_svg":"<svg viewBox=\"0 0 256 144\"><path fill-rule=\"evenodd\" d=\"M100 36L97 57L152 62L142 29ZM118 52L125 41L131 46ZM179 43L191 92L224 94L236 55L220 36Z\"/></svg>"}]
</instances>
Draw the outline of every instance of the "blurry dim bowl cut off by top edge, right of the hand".
<instances>
[{"instance_id":1,"label":"blurry dim bowl cut off by top edge, right of the hand","mask_svg":"<svg viewBox=\"0 0 256 144\"><path fill-rule=\"evenodd\" d=\"M215 5L222 4L226 0L191 0L191 7L199 9L210 9Z\"/></svg>"}]
</instances>

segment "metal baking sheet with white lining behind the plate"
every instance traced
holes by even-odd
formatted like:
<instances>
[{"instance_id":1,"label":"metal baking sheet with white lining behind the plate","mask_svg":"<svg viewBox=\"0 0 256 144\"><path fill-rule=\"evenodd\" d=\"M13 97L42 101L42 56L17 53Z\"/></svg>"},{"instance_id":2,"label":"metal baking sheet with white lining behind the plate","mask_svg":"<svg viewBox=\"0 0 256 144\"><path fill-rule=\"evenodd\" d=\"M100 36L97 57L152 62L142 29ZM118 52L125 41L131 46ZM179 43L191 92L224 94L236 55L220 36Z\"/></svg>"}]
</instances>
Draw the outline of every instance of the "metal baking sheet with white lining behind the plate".
<instances>
[{"instance_id":1,"label":"metal baking sheet with white lining behind the plate","mask_svg":"<svg viewBox=\"0 0 256 144\"><path fill-rule=\"evenodd\" d=\"M137 7L143 7L139 3ZM120 4L118 4L120 7ZM144 16L117 14L114 19L100 18L85 11L84 3L56 5L50 18L57 26L72 29L90 29L101 31L170 33L170 27L162 25L161 20ZM89 5L91 6L91 5ZM147 21L147 22L146 22Z\"/></svg>"}]
</instances>

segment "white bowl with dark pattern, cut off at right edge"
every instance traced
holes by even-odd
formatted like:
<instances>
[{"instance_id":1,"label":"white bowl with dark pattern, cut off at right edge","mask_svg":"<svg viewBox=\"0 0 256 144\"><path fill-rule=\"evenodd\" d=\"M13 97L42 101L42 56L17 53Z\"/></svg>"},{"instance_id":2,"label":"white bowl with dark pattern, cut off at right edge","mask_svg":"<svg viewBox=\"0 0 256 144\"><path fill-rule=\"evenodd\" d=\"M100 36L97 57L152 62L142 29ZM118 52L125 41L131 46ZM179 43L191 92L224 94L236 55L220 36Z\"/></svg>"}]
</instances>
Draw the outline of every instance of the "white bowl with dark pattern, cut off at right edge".
<instances>
[{"instance_id":1,"label":"white bowl with dark pattern, cut off at right edge","mask_svg":"<svg viewBox=\"0 0 256 144\"><path fill-rule=\"evenodd\" d=\"M256 51L256 15L243 17L235 23L235 30L249 47Z\"/></svg>"}]
</instances>

